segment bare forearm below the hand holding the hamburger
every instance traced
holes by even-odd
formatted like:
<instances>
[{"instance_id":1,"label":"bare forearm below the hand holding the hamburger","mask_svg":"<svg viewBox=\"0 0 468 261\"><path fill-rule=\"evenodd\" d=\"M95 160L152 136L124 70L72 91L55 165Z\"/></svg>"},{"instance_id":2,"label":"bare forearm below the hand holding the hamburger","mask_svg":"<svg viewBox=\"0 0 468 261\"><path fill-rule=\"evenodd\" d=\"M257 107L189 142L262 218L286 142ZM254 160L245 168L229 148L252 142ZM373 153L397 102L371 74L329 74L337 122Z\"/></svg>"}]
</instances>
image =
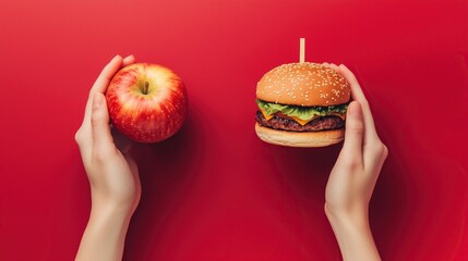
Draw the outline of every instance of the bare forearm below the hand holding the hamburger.
<instances>
[{"instance_id":1,"label":"bare forearm below the hand holding the hamburger","mask_svg":"<svg viewBox=\"0 0 468 261\"><path fill-rule=\"evenodd\" d=\"M345 261L380 261L367 216L332 216L327 214Z\"/></svg>"}]
</instances>

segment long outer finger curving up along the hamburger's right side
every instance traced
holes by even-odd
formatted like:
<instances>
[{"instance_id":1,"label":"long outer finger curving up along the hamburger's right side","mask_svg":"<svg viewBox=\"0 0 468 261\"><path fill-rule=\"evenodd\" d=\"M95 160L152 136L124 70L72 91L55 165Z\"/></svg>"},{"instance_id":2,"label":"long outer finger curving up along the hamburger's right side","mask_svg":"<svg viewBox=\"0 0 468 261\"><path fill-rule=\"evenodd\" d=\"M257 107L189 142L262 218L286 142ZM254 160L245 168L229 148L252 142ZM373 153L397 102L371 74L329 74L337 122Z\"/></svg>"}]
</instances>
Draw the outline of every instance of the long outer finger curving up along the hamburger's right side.
<instances>
[{"instance_id":1,"label":"long outer finger curving up along the hamburger's right side","mask_svg":"<svg viewBox=\"0 0 468 261\"><path fill-rule=\"evenodd\" d=\"M369 144L374 140L377 140L379 135L375 130L374 119L372 116L372 112L369 107L368 99L365 98L364 92L362 91L362 88L359 85L358 79L356 78L355 74L344 64L340 64L338 69L341 75L346 78L346 80L349 83L351 87L352 99L358 101L359 104L361 105L362 114L364 119L364 126L365 126L364 144Z\"/></svg>"}]
</instances>

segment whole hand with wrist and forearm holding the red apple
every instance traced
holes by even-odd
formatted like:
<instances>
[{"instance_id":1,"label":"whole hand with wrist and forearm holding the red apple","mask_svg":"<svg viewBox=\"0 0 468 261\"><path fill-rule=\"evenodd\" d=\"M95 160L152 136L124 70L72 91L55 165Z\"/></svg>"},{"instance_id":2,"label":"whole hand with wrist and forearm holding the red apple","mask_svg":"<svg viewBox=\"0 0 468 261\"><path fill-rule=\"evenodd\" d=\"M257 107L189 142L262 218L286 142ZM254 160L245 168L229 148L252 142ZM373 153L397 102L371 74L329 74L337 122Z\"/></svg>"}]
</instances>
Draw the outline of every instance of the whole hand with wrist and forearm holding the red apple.
<instances>
[{"instance_id":1,"label":"whole hand with wrist and forearm holding the red apple","mask_svg":"<svg viewBox=\"0 0 468 261\"><path fill-rule=\"evenodd\" d=\"M115 57L93 85L84 119L75 134L89 179L92 210L75 260L121 260L130 219L141 197L131 142L113 132L104 96L117 71L134 62L132 55Z\"/></svg>"}]
</instances>

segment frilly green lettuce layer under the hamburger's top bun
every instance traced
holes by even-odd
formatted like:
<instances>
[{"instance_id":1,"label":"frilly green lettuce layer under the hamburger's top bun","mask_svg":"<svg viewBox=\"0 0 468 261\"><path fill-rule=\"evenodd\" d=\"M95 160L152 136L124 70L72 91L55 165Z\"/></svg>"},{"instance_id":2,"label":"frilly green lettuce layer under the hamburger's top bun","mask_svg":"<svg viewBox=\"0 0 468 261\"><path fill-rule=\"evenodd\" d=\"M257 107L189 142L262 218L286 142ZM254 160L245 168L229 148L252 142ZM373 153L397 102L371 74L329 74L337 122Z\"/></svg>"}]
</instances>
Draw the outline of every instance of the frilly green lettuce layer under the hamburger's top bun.
<instances>
[{"instance_id":1,"label":"frilly green lettuce layer under the hamburger's top bun","mask_svg":"<svg viewBox=\"0 0 468 261\"><path fill-rule=\"evenodd\" d=\"M273 102L266 102L260 99L255 100L259 108L268 115L273 115L276 112L281 112L288 116L296 116L303 121L308 121L315 115L326 116L332 113L345 114L348 109L348 104L331 105L331 107L298 107L298 105L285 105Z\"/></svg>"}]
</instances>

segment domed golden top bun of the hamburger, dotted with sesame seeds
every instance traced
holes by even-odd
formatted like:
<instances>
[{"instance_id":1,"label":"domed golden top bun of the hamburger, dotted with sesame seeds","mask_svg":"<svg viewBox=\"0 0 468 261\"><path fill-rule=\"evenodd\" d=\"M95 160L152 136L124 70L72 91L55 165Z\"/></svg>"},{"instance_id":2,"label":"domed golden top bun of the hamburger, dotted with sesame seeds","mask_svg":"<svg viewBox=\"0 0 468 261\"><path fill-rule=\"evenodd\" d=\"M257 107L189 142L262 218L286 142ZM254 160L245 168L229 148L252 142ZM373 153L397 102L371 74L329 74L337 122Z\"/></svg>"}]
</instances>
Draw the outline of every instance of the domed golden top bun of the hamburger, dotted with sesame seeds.
<instances>
[{"instance_id":1,"label":"domed golden top bun of the hamburger, dotted with sesame seeds","mask_svg":"<svg viewBox=\"0 0 468 261\"><path fill-rule=\"evenodd\" d=\"M256 85L256 98L289 105L338 105L349 102L348 82L317 63L288 63L267 72Z\"/></svg>"}]
</instances>

